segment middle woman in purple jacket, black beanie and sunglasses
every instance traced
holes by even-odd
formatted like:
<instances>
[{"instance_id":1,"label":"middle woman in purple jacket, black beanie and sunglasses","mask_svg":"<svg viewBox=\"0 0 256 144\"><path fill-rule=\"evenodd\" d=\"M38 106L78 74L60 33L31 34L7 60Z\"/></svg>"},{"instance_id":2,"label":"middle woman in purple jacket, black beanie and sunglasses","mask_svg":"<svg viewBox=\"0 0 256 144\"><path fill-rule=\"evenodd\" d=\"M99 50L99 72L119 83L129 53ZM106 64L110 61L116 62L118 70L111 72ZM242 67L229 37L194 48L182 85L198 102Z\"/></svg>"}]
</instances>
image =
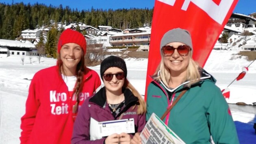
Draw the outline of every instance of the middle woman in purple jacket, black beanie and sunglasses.
<instances>
[{"instance_id":1,"label":"middle woman in purple jacket, black beanie and sunglasses","mask_svg":"<svg viewBox=\"0 0 256 144\"><path fill-rule=\"evenodd\" d=\"M100 76L105 87L87 99L74 123L72 144L130 144L134 133L113 133L100 137L93 122L134 119L135 133L145 126L145 102L139 92L128 82L125 61L116 56L104 59Z\"/></svg>"}]
</instances>

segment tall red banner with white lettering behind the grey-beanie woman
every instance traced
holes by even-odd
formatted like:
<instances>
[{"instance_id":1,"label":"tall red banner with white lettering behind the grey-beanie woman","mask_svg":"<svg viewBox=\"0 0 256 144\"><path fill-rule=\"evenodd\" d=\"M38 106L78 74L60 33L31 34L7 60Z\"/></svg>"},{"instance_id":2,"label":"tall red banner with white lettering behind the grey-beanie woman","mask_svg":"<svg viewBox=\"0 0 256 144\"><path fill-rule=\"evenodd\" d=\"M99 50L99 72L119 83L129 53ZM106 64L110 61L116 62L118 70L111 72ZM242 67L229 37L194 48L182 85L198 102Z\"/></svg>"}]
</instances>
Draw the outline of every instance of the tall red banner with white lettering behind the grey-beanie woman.
<instances>
[{"instance_id":1,"label":"tall red banner with white lettering behind the grey-beanie woman","mask_svg":"<svg viewBox=\"0 0 256 144\"><path fill-rule=\"evenodd\" d=\"M238 0L155 0L146 90L159 62L162 36L173 28L191 33L193 59L204 66Z\"/></svg>"}]
</instances>

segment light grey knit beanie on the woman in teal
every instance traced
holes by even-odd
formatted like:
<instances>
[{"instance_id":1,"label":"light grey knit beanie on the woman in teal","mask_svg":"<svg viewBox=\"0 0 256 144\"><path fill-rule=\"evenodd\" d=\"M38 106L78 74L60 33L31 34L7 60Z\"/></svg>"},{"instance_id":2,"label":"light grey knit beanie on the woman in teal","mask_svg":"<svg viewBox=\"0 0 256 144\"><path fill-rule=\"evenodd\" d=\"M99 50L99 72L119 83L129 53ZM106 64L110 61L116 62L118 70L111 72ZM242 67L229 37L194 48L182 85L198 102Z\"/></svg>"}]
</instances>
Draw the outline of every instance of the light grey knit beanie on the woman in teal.
<instances>
[{"instance_id":1,"label":"light grey knit beanie on the woman in teal","mask_svg":"<svg viewBox=\"0 0 256 144\"><path fill-rule=\"evenodd\" d=\"M175 28L172 30L169 30L163 35L163 38L161 39L160 44L160 53L162 55L162 47L166 44L169 44L170 42L182 42L189 47L191 47L191 52L193 53L193 45L191 40L191 35L189 31L181 29L181 28Z\"/></svg>"}]
</instances>

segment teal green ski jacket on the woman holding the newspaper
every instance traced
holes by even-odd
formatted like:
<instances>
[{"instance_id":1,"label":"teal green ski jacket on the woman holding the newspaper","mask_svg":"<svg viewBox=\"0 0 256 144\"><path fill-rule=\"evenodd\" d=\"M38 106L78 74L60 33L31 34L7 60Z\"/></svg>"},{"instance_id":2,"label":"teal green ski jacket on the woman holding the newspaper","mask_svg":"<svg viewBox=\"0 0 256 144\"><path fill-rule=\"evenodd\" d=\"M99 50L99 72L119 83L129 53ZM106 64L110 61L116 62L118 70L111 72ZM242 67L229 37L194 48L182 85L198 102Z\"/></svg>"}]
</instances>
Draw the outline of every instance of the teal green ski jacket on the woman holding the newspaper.
<instances>
[{"instance_id":1,"label":"teal green ski jacket on the woman holding the newspaper","mask_svg":"<svg viewBox=\"0 0 256 144\"><path fill-rule=\"evenodd\" d=\"M163 82L152 80L147 92L146 120L154 112L158 117L187 89L163 122L186 144L239 144L236 127L228 104L216 80L202 72L200 82L187 87L185 82L175 89L168 89Z\"/></svg>"}]
</instances>

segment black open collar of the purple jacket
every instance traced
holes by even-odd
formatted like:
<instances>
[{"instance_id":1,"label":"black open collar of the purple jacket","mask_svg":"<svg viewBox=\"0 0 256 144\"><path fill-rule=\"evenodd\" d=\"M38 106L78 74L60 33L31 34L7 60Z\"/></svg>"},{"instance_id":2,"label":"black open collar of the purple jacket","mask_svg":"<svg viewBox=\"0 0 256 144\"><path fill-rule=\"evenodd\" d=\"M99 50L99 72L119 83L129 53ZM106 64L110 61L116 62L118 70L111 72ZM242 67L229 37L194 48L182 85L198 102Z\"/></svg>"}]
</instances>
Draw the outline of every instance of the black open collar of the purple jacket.
<instances>
[{"instance_id":1,"label":"black open collar of the purple jacket","mask_svg":"<svg viewBox=\"0 0 256 144\"><path fill-rule=\"evenodd\" d=\"M123 89L124 92L124 104L126 106L131 103L139 101L138 97L135 97L130 89ZM89 102L93 102L102 108L106 105L106 88L102 87L93 97L90 98Z\"/></svg>"}]
</instances>

